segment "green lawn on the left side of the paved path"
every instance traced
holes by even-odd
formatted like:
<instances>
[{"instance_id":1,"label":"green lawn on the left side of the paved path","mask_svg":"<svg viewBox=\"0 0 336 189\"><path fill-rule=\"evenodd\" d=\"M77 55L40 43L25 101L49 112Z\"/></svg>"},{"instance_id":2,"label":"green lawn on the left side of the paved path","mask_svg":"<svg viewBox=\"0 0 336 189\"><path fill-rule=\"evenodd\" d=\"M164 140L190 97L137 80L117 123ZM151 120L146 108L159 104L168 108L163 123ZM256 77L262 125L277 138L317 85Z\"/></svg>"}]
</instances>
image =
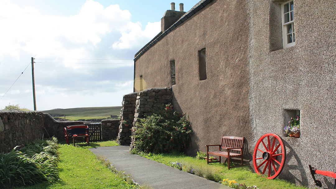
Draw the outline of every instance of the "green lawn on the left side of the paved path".
<instances>
[{"instance_id":1,"label":"green lawn on the left side of the paved path","mask_svg":"<svg viewBox=\"0 0 336 189\"><path fill-rule=\"evenodd\" d=\"M61 141L62 143L62 141ZM120 175L111 172L88 148L97 146L115 146L115 141L90 143L90 146L59 145L60 180L55 183L43 183L17 189L75 189L75 188L140 188L129 184Z\"/></svg>"}]
</instances>

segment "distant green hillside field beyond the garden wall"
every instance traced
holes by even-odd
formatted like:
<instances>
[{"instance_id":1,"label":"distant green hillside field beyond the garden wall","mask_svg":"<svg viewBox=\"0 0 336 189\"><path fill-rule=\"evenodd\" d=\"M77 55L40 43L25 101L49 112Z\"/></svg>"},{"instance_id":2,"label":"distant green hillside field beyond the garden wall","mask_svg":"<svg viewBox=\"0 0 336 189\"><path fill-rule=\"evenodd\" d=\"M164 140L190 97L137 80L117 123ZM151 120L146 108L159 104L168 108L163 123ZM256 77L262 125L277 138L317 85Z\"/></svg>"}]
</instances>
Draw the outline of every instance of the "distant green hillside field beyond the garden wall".
<instances>
[{"instance_id":1,"label":"distant green hillside field beyond the garden wall","mask_svg":"<svg viewBox=\"0 0 336 189\"><path fill-rule=\"evenodd\" d=\"M121 106L111 107L83 107L68 109L51 109L45 110L43 113L49 113L53 117L64 118L67 120L88 120L88 119L107 119L111 115L119 117Z\"/></svg>"}]
</instances>

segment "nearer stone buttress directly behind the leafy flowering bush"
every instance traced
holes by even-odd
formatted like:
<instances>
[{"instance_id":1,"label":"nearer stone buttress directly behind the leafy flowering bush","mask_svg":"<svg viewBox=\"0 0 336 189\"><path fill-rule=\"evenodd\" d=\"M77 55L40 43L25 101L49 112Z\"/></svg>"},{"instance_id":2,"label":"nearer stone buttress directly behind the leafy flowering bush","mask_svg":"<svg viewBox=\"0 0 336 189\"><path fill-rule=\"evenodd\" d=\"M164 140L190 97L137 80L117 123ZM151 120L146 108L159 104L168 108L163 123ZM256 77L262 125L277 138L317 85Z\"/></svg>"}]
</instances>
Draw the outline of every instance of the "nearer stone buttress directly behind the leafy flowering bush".
<instances>
[{"instance_id":1,"label":"nearer stone buttress directly behind the leafy flowering bush","mask_svg":"<svg viewBox=\"0 0 336 189\"><path fill-rule=\"evenodd\" d=\"M134 148L134 131L136 129L136 123L140 121L139 118L153 113L153 110L158 109L162 104L172 103L172 97L170 87L150 88L137 93L130 150Z\"/></svg>"}]
</instances>

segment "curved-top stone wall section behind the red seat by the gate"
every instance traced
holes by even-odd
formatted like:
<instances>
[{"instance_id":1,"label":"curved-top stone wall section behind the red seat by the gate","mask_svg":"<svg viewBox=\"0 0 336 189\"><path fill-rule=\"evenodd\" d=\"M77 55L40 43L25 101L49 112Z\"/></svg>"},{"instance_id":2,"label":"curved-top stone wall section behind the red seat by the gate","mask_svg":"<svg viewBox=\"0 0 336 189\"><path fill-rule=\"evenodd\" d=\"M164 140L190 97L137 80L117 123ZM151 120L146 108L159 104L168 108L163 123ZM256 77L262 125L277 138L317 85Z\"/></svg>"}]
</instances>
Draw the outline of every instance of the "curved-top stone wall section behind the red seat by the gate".
<instances>
[{"instance_id":1,"label":"curved-top stone wall section behind the red seat by the gate","mask_svg":"<svg viewBox=\"0 0 336 189\"><path fill-rule=\"evenodd\" d=\"M48 133L44 137L57 137L58 141L64 140L64 128L69 125L83 125L83 121L59 122L53 119L48 113L43 113L43 125Z\"/></svg>"}]
</instances>

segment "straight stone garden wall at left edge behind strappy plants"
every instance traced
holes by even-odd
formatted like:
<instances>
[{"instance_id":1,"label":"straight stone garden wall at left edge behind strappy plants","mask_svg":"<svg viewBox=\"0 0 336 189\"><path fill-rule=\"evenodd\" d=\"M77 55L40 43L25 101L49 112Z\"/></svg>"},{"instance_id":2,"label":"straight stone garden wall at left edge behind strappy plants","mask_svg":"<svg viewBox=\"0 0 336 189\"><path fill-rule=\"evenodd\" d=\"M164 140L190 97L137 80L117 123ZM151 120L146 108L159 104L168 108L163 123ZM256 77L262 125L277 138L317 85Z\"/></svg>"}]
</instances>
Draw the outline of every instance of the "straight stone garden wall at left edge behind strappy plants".
<instances>
[{"instance_id":1,"label":"straight stone garden wall at left edge behind strappy plants","mask_svg":"<svg viewBox=\"0 0 336 189\"><path fill-rule=\"evenodd\" d=\"M0 110L0 152L7 153L15 146L42 139L42 116L40 111Z\"/></svg>"}]
</instances>

